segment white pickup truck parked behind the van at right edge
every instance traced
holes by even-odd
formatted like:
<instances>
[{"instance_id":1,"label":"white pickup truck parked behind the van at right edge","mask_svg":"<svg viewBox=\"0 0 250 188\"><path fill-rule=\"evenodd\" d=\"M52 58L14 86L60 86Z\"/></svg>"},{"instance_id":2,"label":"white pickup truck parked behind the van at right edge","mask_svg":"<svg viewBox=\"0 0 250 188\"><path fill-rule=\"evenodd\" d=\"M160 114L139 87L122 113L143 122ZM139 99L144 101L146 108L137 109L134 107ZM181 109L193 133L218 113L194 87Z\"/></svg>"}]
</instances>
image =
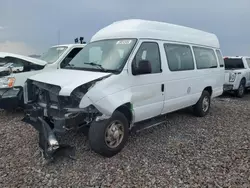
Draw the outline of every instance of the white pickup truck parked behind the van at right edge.
<instances>
[{"instance_id":1,"label":"white pickup truck parked behind the van at right edge","mask_svg":"<svg viewBox=\"0 0 250 188\"><path fill-rule=\"evenodd\" d=\"M245 89L250 87L250 57L224 57L224 63L224 92L235 92L237 97L243 97Z\"/></svg>"}]
</instances>

